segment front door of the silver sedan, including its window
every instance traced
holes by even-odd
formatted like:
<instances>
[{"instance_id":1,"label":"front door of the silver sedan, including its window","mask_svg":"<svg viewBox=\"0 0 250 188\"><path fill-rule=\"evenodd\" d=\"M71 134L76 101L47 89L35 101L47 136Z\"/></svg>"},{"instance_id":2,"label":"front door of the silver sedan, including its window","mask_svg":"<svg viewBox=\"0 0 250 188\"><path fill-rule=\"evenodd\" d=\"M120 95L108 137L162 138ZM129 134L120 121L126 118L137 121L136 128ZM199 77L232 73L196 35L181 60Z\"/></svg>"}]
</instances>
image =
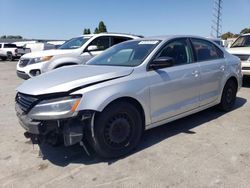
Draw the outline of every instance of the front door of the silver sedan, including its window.
<instances>
[{"instance_id":1,"label":"front door of the silver sedan, including its window","mask_svg":"<svg viewBox=\"0 0 250 188\"><path fill-rule=\"evenodd\" d=\"M172 67L149 70L152 122L171 118L199 106L199 65L194 63L187 38L166 43L156 55L172 57Z\"/></svg>"}]
</instances>

